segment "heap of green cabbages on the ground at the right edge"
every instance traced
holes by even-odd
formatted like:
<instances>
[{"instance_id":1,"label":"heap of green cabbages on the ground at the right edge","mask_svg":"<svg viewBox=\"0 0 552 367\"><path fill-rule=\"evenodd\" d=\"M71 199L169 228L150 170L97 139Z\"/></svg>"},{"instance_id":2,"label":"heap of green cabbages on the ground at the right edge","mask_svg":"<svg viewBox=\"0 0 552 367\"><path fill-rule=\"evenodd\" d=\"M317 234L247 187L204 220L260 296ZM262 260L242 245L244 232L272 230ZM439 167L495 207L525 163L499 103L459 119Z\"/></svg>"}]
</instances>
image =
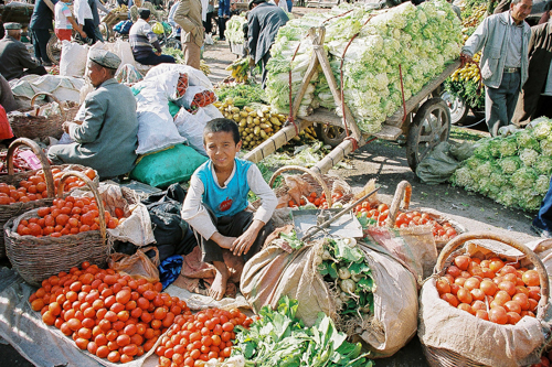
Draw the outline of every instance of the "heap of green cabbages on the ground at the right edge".
<instances>
[{"instance_id":1,"label":"heap of green cabbages on the ground at the right edge","mask_svg":"<svg viewBox=\"0 0 552 367\"><path fill-rule=\"evenodd\" d=\"M508 137L481 139L453 184L489 196L507 207L538 211L552 175L552 119Z\"/></svg>"}]
</instances>

